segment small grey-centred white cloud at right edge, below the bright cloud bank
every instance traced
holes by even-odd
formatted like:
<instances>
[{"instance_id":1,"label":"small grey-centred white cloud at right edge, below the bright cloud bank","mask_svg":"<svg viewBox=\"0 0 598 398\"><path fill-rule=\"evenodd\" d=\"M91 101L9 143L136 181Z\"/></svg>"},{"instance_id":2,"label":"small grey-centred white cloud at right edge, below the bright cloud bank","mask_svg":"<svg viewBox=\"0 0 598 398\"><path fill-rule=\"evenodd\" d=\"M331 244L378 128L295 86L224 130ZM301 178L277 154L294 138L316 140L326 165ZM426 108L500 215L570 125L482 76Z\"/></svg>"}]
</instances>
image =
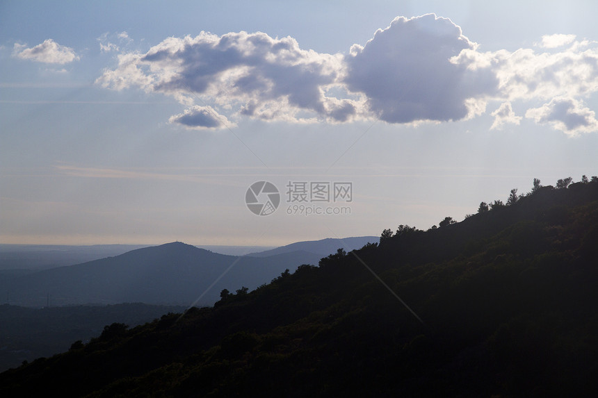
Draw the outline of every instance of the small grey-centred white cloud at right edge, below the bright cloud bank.
<instances>
[{"instance_id":1,"label":"small grey-centred white cloud at right edge, below the bright cloud bank","mask_svg":"<svg viewBox=\"0 0 598 398\"><path fill-rule=\"evenodd\" d=\"M538 124L551 124L570 136L598 130L598 120L593 110L585 107L583 101L572 98L555 98L540 108L531 108L526 117Z\"/></svg>"}]
</instances>

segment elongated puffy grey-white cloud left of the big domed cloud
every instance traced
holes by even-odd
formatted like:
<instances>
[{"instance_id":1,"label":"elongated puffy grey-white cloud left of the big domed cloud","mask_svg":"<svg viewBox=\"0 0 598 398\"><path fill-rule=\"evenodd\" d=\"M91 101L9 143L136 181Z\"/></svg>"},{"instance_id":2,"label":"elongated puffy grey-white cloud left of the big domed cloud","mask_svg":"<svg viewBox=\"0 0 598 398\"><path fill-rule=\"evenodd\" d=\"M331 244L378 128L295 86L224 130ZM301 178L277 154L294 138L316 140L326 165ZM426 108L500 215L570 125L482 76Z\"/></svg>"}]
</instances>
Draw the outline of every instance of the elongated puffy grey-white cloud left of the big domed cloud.
<instances>
[{"instance_id":1,"label":"elongated puffy grey-white cloud left of the big domed cloud","mask_svg":"<svg viewBox=\"0 0 598 398\"><path fill-rule=\"evenodd\" d=\"M186 105L202 96L261 119L297 121L307 111L344 121L355 112L353 102L325 95L341 69L342 56L300 49L293 38L202 32L168 38L147 53L122 54L118 67L104 71L97 83L117 90L136 85Z\"/></svg>"}]
</instances>

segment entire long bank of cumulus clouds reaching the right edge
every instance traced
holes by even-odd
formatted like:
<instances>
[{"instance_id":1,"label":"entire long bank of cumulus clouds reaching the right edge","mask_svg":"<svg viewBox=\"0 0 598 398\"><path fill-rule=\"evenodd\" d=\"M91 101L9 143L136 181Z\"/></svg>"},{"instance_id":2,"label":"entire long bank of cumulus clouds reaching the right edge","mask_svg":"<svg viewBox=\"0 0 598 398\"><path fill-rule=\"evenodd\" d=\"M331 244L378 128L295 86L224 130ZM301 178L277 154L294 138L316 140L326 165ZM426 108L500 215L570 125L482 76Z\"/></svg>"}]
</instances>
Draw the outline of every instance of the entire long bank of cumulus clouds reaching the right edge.
<instances>
[{"instance_id":1,"label":"entire long bank of cumulus clouds reaching the right edge","mask_svg":"<svg viewBox=\"0 0 598 398\"><path fill-rule=\"evenodd\" d=\"M221 128L213 115L292 123L456 121L486 113L489 103L501 103L491 113L491 128L501 128L521 120L513 101L522 107L542 101L526 113L536 122L571 135L598 131L591 110L580 105L598 92L598 46L574 35L543 36L533 49L483 52L450 19L430 14L397 17L346 54L243 31L167 38L146 52L123 50L126 32L100 39L103 51L119 52L97 84L173 97L187 110L171 122L190 128ZM558 111L556 99L569 101L567 112ZM575 125L573 115L585 122Z\"/></svg>"}]
</instances>

